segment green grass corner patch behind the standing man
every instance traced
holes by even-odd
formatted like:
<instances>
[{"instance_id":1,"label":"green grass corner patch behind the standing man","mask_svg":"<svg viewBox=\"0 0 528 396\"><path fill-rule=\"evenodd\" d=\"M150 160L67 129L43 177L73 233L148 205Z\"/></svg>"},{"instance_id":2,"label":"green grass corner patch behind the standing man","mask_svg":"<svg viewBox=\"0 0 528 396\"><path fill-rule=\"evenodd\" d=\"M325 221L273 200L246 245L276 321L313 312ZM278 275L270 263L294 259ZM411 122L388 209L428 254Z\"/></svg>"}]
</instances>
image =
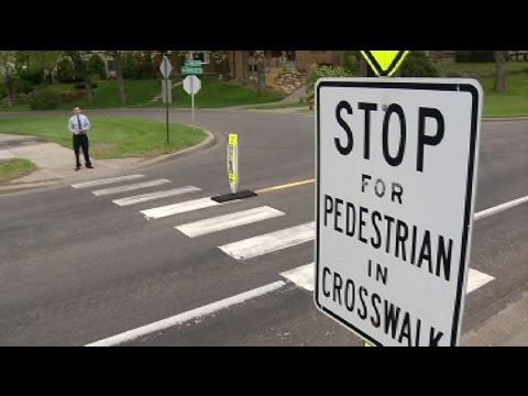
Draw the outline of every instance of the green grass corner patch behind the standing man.
<instances>
[{"instance_id":1,"label":"green grass corner patch behind the standing man","mask_svg":"<svg viewBox=\"0 0 528 396\"><path fill-rule=\"evenodd\" d=\"M163 122L107 118L90 121L90 154L95 158L152 157L196 145L206 138L199 128L170 123L167 145ZM4 119L0 122L0 133L41 136L72 148L72 132L64 118Z\"/></svg>"}]
</instances>

